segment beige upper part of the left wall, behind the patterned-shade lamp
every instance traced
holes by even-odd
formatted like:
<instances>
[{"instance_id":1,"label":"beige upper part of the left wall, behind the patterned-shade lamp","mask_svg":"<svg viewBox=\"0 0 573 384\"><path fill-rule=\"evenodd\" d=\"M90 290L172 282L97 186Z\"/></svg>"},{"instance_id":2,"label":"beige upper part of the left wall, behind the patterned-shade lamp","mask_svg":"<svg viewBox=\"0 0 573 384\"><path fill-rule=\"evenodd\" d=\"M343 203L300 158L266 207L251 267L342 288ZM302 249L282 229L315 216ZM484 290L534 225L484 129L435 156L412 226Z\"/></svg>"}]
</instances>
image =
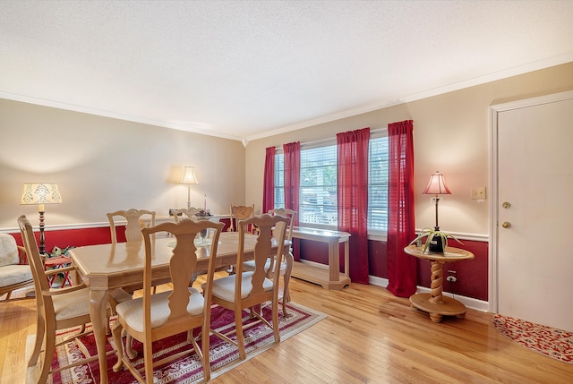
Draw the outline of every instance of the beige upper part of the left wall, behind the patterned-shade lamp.
<instances>
[{"instance_id":1,"label":"beige upper part of the left wall, behind the patterned-shade lamp","mask_svg":"<svg viewBox=\"0 0 573 384\"><path fill-rule=\"evenodd\" d=\"M192 205L228 213L244 202L244 146L52 107L0 99L0 231L16 227L36 206L21 206L22 183L58 183L64 202L47 205L47 226L97 225L116 209L184 208L182 166L195 166ZM49 229L49 228L48 228Z\"/></svg>"}]
</instances>

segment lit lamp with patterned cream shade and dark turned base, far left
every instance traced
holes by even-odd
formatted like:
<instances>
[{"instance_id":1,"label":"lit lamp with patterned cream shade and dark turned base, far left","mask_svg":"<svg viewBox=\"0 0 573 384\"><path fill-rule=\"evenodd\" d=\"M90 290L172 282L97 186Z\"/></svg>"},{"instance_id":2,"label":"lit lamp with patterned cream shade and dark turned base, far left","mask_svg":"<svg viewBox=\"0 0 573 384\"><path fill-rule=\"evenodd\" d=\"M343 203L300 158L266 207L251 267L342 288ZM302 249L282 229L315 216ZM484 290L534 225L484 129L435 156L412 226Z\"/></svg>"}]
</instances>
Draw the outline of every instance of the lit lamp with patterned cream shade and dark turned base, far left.
<instances>
[{"instance_id":1,"label":"lit lamp with patterned cream shade and dark turned base, far left","mask_svg":"<svg viewBox=\"0 0 573 384\"><path fill-rule=\"evenodd\" d=\"M38 204L39 212L39 252L46 253L46 236L44 235L44 204L59 204L62 195L56 183L24 183L21 189L21 205Z\"/></svg>"}]
</instances>

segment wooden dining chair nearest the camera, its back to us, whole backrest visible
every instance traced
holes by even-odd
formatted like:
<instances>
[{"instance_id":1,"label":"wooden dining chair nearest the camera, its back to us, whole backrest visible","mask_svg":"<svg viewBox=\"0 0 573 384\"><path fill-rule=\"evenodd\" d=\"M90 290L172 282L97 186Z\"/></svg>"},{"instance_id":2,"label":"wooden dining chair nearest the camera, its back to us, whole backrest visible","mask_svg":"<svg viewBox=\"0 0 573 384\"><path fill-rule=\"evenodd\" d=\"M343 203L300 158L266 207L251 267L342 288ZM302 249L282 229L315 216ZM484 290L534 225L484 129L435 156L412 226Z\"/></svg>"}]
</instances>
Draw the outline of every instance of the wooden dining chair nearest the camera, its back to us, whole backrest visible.
<instances>
[{"instance_id":1,"label":"wooden dining chair nearest the camera, its back to us, whole backrest visible","mask_svg":"<svg viewBox=\"0 0 573 384\"><path fill-rule=\"evenodd\" d=\"M117 320L112 326L112 333L117 346L117 363L114 371L119 371L125 365L132 372L133 377L141 383L153 382L153 368L171 362L192 351L199 356L203 366L205 381L210 380L210 306L211 286L215 272L215 258L217 255L218 237L224 223L213 223L209 220L192 221L181 220L178 223L161 223L142 229L145 243L145 266L143 268L143 295L132 301L117 304ZM210 247L201 247L197 251L194 239L201 232L212 228L214 231ZM151 260L153 259L153 234L165 231L175 236L173 256L169 260L169 273L173 291L150 294L151 288ZM197 252L205 253L209 257L207 282L203 294L197 289L189 287L189 281L195 273ZM201 328L201 347L194 337L192 329ZM122 343L122 330L143 344L143 359L145 377L132 362L125 357ZM153 362L152 343L154 341L181 333L188 332L187 341L192 349L177 354L169 354L165 359Z\"/></svg>"}]
</instances>

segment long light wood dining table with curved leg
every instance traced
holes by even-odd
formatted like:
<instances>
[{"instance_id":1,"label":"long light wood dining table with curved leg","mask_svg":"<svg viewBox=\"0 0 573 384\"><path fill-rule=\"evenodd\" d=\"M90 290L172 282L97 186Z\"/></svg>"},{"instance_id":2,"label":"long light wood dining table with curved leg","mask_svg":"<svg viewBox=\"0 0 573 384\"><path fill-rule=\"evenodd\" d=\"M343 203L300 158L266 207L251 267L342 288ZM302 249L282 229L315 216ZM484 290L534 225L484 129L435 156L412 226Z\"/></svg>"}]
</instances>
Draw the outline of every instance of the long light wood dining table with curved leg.
<instances>
[{"instance_id":1,"label":"long light wood dining table with curved leg","mask_svg":"<svg viewBox=\"0 0 573 384\"><path fill-rule=\"evenodd\" d=\"M252 260L257 235L245 235L244 258ZM162 284L169 279L169 259L172 256L175 238L153 240L151 260L152 281ZM234 265L239 244L236 232L221 232L219 236L216 269ZM277 251L273 239L272 249ZM285 246L285 252L288 247ZM210 246L198 246L196 271L206 271L210 258ZM107 383L106 361L106 309L109 291L115 288L139 288L143 284L145 245L141 242L87 245L70 250L73 265L81 281L90 289L90 316L96 346L98 348L99 382ZM286 260L289 260L286 258Z\"/></svg>"}]
</instances>

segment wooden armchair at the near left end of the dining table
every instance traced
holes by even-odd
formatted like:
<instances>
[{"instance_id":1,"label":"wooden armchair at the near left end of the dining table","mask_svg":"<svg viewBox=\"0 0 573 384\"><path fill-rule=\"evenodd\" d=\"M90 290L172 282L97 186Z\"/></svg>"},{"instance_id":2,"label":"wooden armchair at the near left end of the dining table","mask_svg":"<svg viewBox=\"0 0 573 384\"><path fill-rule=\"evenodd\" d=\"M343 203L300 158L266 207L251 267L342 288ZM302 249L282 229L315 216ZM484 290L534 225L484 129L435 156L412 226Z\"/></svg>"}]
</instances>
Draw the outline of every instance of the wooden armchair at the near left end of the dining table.
<instances>
[{"instance_id":1,"label":"wooden armchair at the near left end of the dining table","mask_svg":"<svg viewBox=\"0 0 573 384\"><path fill-rule=\"evenodd\" d=\"M66 267L63 269L44 270L44 263L42 256L39 254L38 243L36 243L30 221L26 216L22 215L18 218L18 226L20 226L21 238L28 255L34 286L36 288L36 342L30 355L28 366L31 367L38 363L41 347L45 341L44 358L37 380L38 383L43 384L46 383L47 376L50 373L98 360L97 354L94 356L88 354L84 359L60 366L56 370L51 370L56 346L69 343L73 339L78 339L90 333L90 331L85 331L85 324L91 322L90 291L84 284L64 288L51 288L48 284L47 277L54 273L60 273L66 270L71 271L74 270L74 268ZM111 312L108 309L107 316L110 314ZM56 331L72 327L80 327L79 332L72 337L64 338L64 340L56 344ZM44 338L46 338L46 340L44 340ZM87 351L84 353L86 352ZM107 354L114 354L114 351L109 351Z\"/></svg>"}]
</instances>

